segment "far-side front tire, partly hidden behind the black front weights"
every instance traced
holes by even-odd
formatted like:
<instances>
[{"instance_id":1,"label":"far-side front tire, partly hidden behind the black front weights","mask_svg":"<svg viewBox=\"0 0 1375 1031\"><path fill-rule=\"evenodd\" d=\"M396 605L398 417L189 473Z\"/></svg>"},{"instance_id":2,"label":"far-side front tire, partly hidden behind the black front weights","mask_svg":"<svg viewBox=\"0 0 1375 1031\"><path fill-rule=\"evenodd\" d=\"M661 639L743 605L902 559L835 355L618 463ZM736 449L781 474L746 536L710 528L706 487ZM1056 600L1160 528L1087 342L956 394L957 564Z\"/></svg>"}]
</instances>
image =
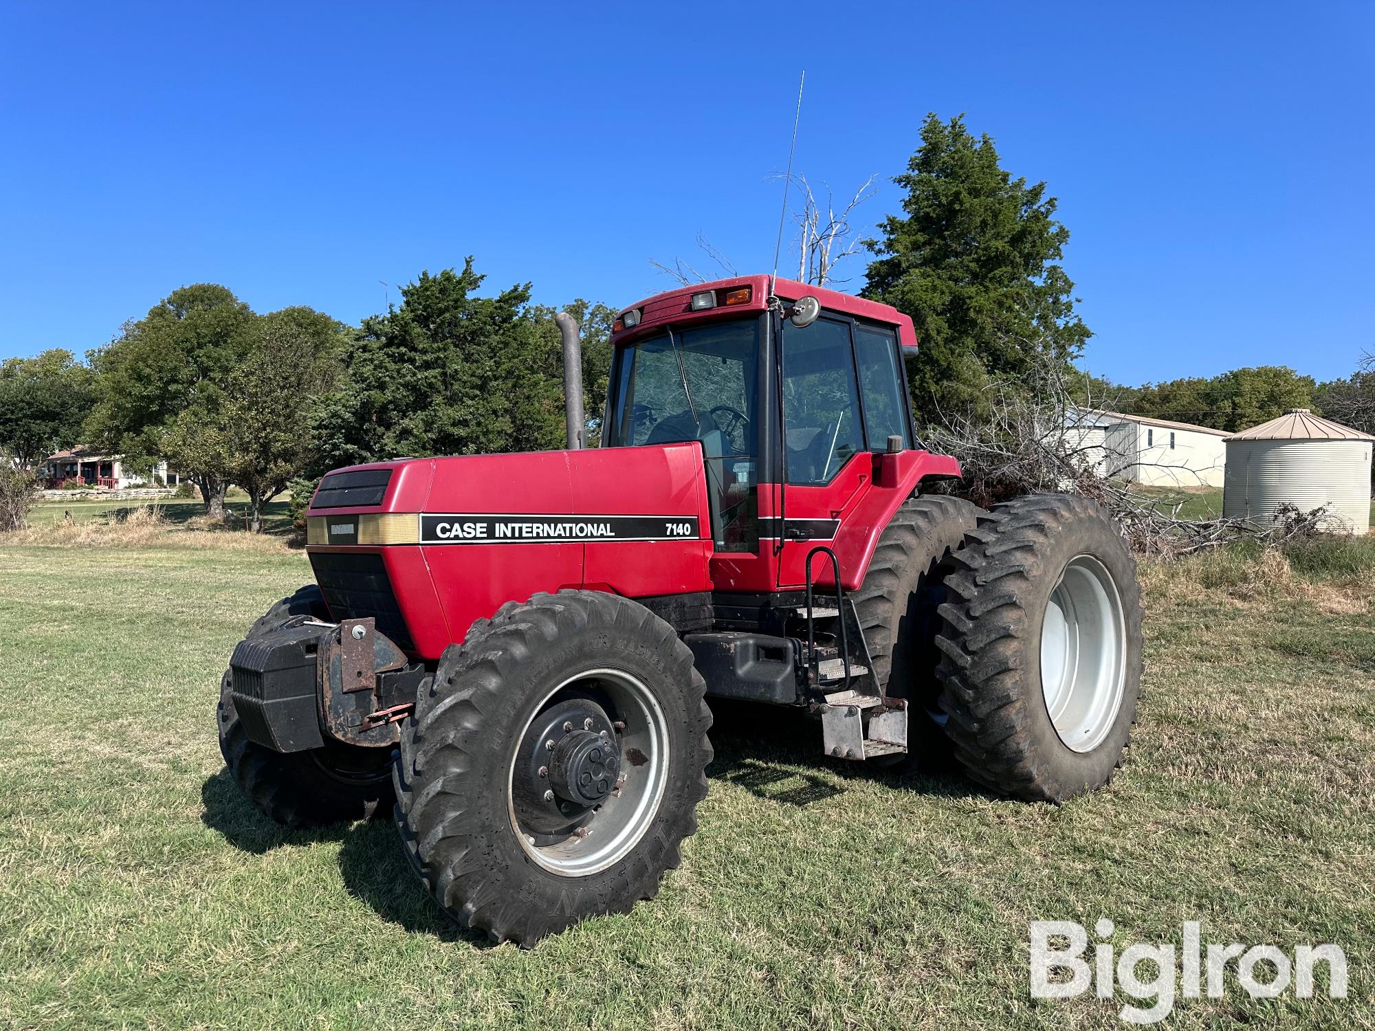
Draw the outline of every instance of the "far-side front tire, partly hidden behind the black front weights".
<instances>
[{"instance_id":1,"label":"far-side front tire, partly hidden behind the black front weights","mask_svg":"<svg viewBox=\"0 0 1375 1031\"><path fill-rule=\"evenodd\" d=\"M246 636L270 634L293 616L329 619L320 588L302 587L258 619ZM327 744L308 752L274 752L249 741L234 711L232 675L220 679L216 722L220 753L243 793L270 819L287 828L312 828L368 819L392 801L386 749Z\"/></svg>"}]
</instances>

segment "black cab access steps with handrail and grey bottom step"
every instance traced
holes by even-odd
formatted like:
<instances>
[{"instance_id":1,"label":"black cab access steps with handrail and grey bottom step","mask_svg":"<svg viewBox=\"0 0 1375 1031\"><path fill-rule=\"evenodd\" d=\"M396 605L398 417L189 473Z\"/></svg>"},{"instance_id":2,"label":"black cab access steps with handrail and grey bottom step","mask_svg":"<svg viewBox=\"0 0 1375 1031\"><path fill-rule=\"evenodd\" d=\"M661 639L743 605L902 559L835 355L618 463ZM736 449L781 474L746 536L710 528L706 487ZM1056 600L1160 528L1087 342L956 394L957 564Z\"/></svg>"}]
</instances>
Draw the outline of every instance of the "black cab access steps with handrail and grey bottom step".
<instances>
[{"instance_id":1,"label":"black cab access steps with handrail and grey bottom step","mask_svg":"<svg viewBox=\"0 0 1375 1031\"><path fill-rule=\"evenodd\" d=\"M830 608L815 603L811 561L818 554L830 559L836 583L836 601ZM840 583L840 559L829 547L814 547L807 553L806 573L807 672L814 696L811 711L821 716L822 749L836 759L857 762L906 755L908 702L890 698L879 689L859 617ZM836 645L818 643L815 621L837 616ZM855 647L851 641L857 642Z\"/></svg>"}]
</instances>

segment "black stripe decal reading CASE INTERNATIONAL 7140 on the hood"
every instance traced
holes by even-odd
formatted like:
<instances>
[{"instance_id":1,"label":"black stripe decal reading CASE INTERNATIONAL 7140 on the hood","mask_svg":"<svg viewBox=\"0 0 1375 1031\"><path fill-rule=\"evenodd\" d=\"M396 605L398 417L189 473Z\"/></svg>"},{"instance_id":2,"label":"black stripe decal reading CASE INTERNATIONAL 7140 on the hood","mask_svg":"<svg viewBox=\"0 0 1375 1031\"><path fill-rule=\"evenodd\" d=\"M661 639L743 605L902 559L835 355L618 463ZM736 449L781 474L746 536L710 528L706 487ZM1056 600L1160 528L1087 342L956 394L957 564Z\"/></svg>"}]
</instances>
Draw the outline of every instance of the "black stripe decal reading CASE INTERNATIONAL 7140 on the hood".
<instances>
[{"instance_id":1,"label":"black stripe decal reading CASE INTERNATIONAL 7140 on the hood","mask_svg":"<svg viewBox=\"0 0 1375 1031\"><path fill-rule=\"evenodd\" d=\"M696 516L480 516L421 513L422 544L696 540Z\"/></svg>"}]
</instances>

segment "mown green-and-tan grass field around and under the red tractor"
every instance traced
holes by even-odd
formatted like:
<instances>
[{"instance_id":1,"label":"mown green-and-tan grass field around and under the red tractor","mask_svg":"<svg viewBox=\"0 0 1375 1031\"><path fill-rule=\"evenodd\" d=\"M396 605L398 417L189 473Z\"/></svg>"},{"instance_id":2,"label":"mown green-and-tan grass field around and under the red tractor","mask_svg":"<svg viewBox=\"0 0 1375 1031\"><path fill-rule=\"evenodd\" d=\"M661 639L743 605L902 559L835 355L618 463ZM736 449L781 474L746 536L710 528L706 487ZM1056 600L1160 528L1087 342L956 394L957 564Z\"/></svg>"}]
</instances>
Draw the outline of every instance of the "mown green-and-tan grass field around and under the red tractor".
<instances>
[{"instance_id":1,"label":"mown green-and-tan grass field around and under the red tractor","mask_svg":"<svg viewBox=\"0 0 1375 1031\"><path fill-rule=\"evenodd\" d=\"M1346 950L1345 1002L1231 979L1167 1027L1375 1027L1368 555L1147 570L1128 766L1060 808L723 708L659 898L521 951L455 929L389 823L286 833L239 796L219 675L308 566L192 536L0 546L0 1026L1115 1027L1125 997L1027 991L1028 921L1108 917L1119 950L1182 920Z\"/></svg>"}]
</instances>

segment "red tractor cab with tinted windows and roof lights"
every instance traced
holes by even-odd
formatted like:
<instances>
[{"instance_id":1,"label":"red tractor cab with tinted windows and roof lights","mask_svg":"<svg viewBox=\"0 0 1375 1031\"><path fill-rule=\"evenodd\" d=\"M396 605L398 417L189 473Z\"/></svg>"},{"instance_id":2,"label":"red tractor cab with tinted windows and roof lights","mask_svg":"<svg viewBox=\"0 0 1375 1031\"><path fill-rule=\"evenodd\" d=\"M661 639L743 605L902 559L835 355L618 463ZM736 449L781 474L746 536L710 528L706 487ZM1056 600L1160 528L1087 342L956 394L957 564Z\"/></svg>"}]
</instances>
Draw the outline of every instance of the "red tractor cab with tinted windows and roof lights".
<instances>
[{"instance_id":1,"label":"red tractor cab with tinted windows and roof lights","mask_svg":"<svg viewBox=\"0 0 1375 1031\"><path fill-rule=\"evenodd\" d=\"M627 308L612 344L602 444L701 445L718 591L802 587L821 544L858 586L917 481L958 473L917 448L890 305L740 276Z\"/></svg>"}]
</instances>

